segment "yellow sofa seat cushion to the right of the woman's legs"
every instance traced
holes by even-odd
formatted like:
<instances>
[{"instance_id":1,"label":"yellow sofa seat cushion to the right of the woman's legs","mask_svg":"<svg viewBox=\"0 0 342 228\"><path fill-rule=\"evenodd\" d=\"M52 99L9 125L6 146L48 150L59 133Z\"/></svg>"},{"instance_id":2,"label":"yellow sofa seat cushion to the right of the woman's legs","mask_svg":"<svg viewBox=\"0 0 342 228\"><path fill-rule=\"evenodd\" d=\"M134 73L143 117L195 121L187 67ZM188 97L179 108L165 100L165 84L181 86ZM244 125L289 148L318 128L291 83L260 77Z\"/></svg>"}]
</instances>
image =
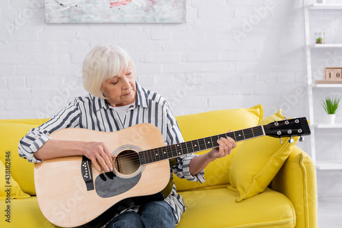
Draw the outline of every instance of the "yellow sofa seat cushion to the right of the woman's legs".
<instances>
[{"instance_id":1,"label":"yellow sofa seat cushion to the right of the woman's legs","mask_svg":"<svg viewBox=\"0 0 342 228\"><path fill-rule=\"evenodd\" d=\"M239 203L235 202L237 193L224 186L179 194L184 198L187 210L177 228L295 227L293 204L285 195L270 188Z\"/></svg>"}]
</instances>

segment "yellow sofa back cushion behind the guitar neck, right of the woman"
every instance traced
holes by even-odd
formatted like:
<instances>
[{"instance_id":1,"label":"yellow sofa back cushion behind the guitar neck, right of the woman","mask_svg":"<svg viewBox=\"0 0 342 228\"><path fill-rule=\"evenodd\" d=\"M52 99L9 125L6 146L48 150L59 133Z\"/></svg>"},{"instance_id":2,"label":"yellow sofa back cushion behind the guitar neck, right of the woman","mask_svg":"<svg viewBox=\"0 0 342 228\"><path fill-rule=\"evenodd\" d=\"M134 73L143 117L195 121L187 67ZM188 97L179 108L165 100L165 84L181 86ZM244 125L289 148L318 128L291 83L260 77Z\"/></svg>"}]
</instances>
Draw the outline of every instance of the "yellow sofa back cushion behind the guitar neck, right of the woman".
<instances>
[{"instance_id":1,"label":"yellow sofa back cushion behind the guitar neck, right of the woman","mask_svg":"<svg viewBox=\"0 0 342 228\"><path fill-rule=\"evenodd\" d=\"M176 117L185 141L202 139L213 135L222 134L228 130L241 130L256 126L263 119L263 106L261 104L250 109L226 109L220 111L209 111L192 115L181 115ZM237 143L237 148L241 143ZM237 150L225 158L211 162L205 168L206 182L189 182L174 176L174 182L178 190L188 190L205 186L229 183L229 165ZM208 151L197 154L205 154Z\"/></svg>"}]
</instances>

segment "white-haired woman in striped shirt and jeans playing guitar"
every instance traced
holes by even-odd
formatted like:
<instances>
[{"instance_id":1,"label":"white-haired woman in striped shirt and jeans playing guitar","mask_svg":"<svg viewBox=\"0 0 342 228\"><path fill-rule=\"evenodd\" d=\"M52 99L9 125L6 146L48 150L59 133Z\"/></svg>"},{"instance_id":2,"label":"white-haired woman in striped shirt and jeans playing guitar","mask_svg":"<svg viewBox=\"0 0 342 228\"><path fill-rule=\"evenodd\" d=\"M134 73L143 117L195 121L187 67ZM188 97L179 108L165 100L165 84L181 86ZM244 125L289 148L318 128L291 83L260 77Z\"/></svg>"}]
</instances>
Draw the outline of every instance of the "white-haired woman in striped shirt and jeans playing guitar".
<instances>
[{"instance_id":1,"label":"white-haired woman in striped shirt and jeans playing guitar","mask_svg":"<svg viewBox=\"0 0 342 228\"><path fill-rule=\"evenodd\" d=\"M83 62L83 85L89 92L70 102L49 122L31 129L19 143L19 155L29 162L63 156L86 156L98 172L113 170L113 156L103 142L59 141L49 134L63 128L87 128L114 132L135 124L149 123L159 128L166 145L183 142L170 106L159 94L135 81L131 57L118 46L103 44L88 53ZM204 169L236 147L233 139L219 139L218 148L201 156L190 154L176 158L170 172L191 181L205 182ZM172 173L170 173L172 178ZM106 227L174 227L185 205L181 195L172 192L163 200L135 205L126 199Z\"/></svg>"}]
</instances>

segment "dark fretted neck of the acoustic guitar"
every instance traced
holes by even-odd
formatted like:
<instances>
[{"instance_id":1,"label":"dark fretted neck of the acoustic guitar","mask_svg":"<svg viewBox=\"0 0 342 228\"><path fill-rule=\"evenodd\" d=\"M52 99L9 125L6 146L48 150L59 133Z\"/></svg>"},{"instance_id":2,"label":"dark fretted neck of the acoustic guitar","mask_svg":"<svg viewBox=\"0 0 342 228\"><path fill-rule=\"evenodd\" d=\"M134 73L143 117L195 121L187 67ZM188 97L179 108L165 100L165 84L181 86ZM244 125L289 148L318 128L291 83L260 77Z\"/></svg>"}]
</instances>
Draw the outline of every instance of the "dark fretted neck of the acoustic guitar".
<instances>
[{"instance_id":1,"label":"dark fretted neck of the acoustic guitar","mask_svg":"<svg viewBox=\"0 0 342 228\"><path fill-rule=\"evenodd\" d=\"M184 143L158 147L155 149L148 149L139 152L140 164L146 165L152 162L157 162L159 160L177 158L187 154L200 152L206 149L212 149L219 146L217 141L222 137L231 137L236 142L240 142L262 136L265 136L263 126L255 126L253 128L246 128L244 130L237 130L235 132L227 132L225 134L218 134L212 137L195 139Z\"/></svg>"}]
</instances>

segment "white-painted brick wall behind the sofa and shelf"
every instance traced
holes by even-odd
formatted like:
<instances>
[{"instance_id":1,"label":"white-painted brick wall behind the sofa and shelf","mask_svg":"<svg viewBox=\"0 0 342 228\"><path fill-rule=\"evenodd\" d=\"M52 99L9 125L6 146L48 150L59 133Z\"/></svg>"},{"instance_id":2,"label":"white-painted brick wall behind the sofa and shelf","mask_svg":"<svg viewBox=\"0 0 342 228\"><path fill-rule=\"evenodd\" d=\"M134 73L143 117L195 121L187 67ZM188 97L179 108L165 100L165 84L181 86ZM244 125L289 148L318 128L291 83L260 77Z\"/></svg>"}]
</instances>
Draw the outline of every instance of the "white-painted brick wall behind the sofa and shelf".
<instances>
[{"instance_id":1,"label":"white-painted brick wall behind the sofa and shelf","mask_svg":"<svg viewBox=\"0 0 342 228\"><path fill-rule=\"evenodd\" d=\"M341 43L341 11L314 16L311 29L324 29L327 42ZM51 117L86 94L81 64L103 42L131 54L137 81L165 96L175 115L263 104L265 116L279 108L289 117L308 116L301 0L188 0L186 23L86 25L44 23L43 0L3 0L0 31L2 119ZM316 77L326 62L342 66L341 50L316 52L323 56L313 59ZM317 119L323 118L319 103L326 92L317 95ZM321 145L317 152L330 147ZM309 153L308 141L300 147ZM333 147L329 156L341 159L341 143ZM341 178L327 175L342 188ZM326 195L320 183L319 193Z\"/></svg>"}]
</instances>

